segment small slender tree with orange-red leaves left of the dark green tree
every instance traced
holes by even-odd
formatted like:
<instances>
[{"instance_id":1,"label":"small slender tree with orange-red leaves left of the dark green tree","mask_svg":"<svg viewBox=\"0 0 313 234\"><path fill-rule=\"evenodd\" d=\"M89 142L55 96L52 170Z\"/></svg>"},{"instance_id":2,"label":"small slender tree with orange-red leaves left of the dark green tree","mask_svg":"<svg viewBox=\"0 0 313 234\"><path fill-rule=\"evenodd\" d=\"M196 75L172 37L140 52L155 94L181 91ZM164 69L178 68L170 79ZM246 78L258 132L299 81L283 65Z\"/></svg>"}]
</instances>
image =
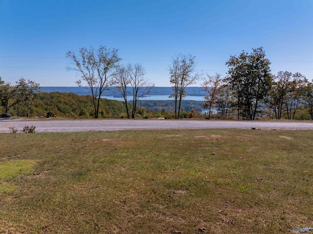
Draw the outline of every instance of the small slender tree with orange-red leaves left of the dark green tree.
<instances>
[{"instance_id":1,"label":"small slender tree with orange-red leaves left of the dark green tree","mask_svg":"<svg viewBox=\"0 0 313 234\"><path fill-rule=\"evenodd\" d=\"M208 93L207 96L204 97L203 108L207 108L209 110L208 119L211 116L211 109L215 105L218 100L219 88L223 83L222 75L216 73L213 76L206 74L206 78L204 78L204 82L202 83L202 87L204 87L204 91Z\"/></svg>"}]
</instances>

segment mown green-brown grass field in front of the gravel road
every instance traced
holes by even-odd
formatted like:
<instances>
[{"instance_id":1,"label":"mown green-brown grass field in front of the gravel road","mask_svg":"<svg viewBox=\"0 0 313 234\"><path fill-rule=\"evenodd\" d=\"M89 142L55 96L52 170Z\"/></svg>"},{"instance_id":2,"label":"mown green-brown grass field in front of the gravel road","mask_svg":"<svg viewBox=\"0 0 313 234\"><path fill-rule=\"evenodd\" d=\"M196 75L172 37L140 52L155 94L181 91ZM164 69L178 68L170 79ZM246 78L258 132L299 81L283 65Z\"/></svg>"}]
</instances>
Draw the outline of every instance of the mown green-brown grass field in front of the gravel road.
<instances>
[{"instance_id":1,"label":"mown green-brown grass field in front of the gravel road","mask_svg":"<svg viewBox=\"0 0 313 234\"><path fill-rule=\"evenodd\" d=\"M312 130L0 134L0 233L313 227Z\"/></svg>"}]
</instances>

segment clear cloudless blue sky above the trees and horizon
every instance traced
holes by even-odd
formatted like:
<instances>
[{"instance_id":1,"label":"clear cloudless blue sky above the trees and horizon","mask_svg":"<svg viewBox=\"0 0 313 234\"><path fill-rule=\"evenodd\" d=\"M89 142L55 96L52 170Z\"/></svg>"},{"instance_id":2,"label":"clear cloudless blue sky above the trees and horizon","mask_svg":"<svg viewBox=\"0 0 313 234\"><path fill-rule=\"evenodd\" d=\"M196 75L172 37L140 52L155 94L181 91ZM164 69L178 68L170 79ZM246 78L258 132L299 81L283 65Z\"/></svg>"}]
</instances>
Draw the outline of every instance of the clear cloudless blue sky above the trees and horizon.
<instances>
[{"instance_id":1,"label":"clear cloudless blue sky above the trees and horizon","mask_svg":"<svg viewBox=\"0 0 313 234\"><path fill-rule=\"evenodd\" d=\"M230 55L263 46L273 74L313 79L313 0L0 0L0 76L75 86L68 50L119 49L156 86L170 86L179 53L223 75Z\"/></svg>"}]
</instances>

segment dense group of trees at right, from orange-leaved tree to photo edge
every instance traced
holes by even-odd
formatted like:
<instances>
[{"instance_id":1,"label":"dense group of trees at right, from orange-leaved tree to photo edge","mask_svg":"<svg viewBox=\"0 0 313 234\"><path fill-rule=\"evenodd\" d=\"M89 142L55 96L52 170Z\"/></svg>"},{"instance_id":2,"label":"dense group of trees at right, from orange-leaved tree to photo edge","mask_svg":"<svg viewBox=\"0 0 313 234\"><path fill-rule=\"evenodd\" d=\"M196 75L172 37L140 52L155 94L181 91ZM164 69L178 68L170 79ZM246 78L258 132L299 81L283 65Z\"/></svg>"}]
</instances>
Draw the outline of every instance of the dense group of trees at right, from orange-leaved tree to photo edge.
<instances>
[{"instance_id":1,"label":"dense group of trees at right, from orange-leaved tree to photo edge","mask_svg":"<svg viewBox=\"0 0 313 234\"><path fill-rule=\"evenodd\" d=\"M224 79L221 74L204 78L208 95L203 106L209 110L208 119L214 107L220 115L237 119L293 120L301 106L313 120L313 83L299 72L272 75L262 47L231 56L226 65L229 70Z\"/></svg>"}]
</instances>

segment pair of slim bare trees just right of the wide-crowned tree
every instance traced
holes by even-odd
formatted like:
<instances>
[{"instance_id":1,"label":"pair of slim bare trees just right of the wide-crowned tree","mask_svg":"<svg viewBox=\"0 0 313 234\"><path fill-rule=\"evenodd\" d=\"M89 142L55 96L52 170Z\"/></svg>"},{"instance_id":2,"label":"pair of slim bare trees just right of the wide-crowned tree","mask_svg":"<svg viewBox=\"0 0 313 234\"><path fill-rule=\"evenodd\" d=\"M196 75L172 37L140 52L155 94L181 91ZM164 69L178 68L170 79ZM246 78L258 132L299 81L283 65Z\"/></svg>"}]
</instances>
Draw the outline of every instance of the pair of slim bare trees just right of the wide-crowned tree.
<instances>
[{"instance_id":1,"label":"pair of slim bare trees just right of the wide-crowned tree","mask_svg":"<svg viewBox=\"0 0 313 234\"><path fill-rule=\"evenodd\" d=\"M115 85L117 89L122 94L125 107L127 112L127 117L135 118L136 113L136 106L137 101L139 98L149 94L151 92L152 84L146 77L145 77L145 68L142 64L127 64L127 66L122 65L119 66L114 78L115 78ZM131 96L132 100L132 115L130 115L129 108L128 108L128 99L127 96Z\"/></svg>"}]
</instances>

